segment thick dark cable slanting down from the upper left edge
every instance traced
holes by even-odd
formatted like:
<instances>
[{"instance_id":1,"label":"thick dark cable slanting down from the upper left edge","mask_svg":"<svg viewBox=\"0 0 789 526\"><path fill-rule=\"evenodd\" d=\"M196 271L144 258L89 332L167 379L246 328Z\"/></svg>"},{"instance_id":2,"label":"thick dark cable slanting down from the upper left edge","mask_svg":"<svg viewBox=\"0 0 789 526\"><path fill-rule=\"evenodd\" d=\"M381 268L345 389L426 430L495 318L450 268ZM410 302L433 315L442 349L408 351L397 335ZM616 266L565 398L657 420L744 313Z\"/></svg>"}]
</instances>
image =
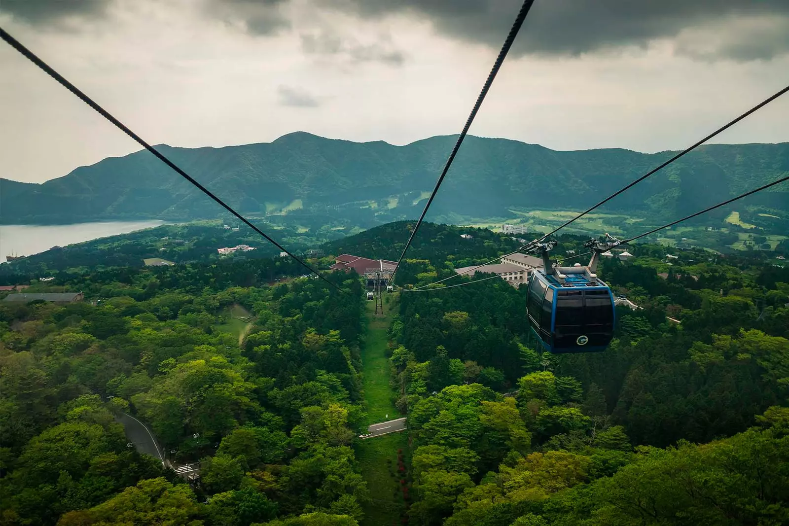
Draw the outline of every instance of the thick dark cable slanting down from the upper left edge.
<instances>
[{"instance_id":1,"label":"thick dark cable slanting down from the upper left edge","mask_svg":"<svg viewBox=\"0 0 789 526\"><path fill-rule=\"evenodd\" d=\"M88 106L91 106L94 110L96 110L99 114L101 114L103 118L106 118L107 121L110 121L112 124L117 126L118 129L121 129L122 132L124 132L126 135L131 137L133 140L135 140L137 144L140 144L140 146L142 146L146 150L150 151L153 155L155 155L157 158L159 158L159 160L161 160L167 166L170 166L170 168L175 170L175 172L177 172L178 175L180 175L181 177L184 177L187 181L189 181L190 183L195 185L197 188L199 188L200 191L203 192L206 196L210 197L212 200L215 200L216 203L219 203L219 205L221 205L226 211L229 211L230 214L232 214L236 218L240 219L242 222L245 223L245 225L247 225L247 226L249 226L249 228L255 230L256 233L259 233L267 241L269 241L275 247L279 248L282 252L285 252L288 256L290 256L291 258L295 259L299 264L301 264L302 267L305 267L312 274L315 274L318 278L321 278L324 282L327 282L329 285L331 285L332 287L334 287L335 289L337 289L341 293L347 294L346 291L340 289L338 285L335 285L335 283L330 282L327 278L325 278L317 270L314 270L307 263L305 263L299 257L295 256L293 253L288 251L285 247L283 247L277 241L274 241L271 237L268 237L267 234L263 232L263 230L261 230L258 227L252 225L252 223L249 222L249 220L247 218L245 218L244 216L239 214L232 207L230 207L230 205L226 204L224 201L219 199L219 197L215 196L210 190L208 190L208 188L205 188L203 185L200 185L200 183L195 181L193 179L193 177L190 177L188 173L186 173L184 170L181 170L181 168L176 166L174 162L170 161L170 159L167 159L165 157L165 155L163 155L161 152L156 150L155 147L152 147L150 144L145 142L140 136L138 136L135 132L133 132L128 127L126 127L121 121L118 121L117 118L114 118L107 110L105 110L102 106L99 106L99 104L96 103L90 97L88 97L88 95L85 95L76 86L74 86L74 84L71 84L68 80L65 80L64 76L62 76L60 73L58 73L57 71L52 69L50 67L50 65L47 65L46 62L43 62L43 60L41 58L36 56L36 54L33 54L33 52L31 50L28 50L27 47L24 47L17 39L14 39L13 36L9 35L8 32L6 32L2 28L0 28L0 37L2 37L2 39L5 40L6 43L9 43L9 45L11 47L13 47L17 51L19 51L21 54L23 54L25 58L28 58L28 60L30 60L30 62L33 62L35 65L39 66L39 68L43 69L43 71L45 73L47 73L49 76L51 76L54 80L57 80L64 88L66 88L69 91L71 91L74 95L77 95L77 97L79 97L82 100L82 102L84 102Z\"/></svg>"}]
</instances>

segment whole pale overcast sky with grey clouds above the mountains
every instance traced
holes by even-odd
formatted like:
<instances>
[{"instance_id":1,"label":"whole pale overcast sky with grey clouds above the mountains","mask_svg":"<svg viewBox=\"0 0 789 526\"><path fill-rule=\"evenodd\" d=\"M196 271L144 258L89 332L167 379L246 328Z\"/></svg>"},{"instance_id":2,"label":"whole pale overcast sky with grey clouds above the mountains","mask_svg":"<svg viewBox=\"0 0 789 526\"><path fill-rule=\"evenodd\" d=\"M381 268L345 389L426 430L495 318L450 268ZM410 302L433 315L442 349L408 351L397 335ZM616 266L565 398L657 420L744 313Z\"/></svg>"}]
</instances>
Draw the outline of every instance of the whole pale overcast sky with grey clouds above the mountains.
<instances>
[{"instance_id":1,"label":"whole pale overcast sky with grey clouds above the mountains","mask_svg":"<svg viewBox=\"0 0 789 526\"><path fill-rule=\"evenodd\" d=\"M0 26L152 144L407 144L462 129L520 4L0 0ZM6 43L0 71L0 177L140 149ZM787 84L787 0L537 0L471 133L682 149ZM789 95L716 140L783 141Z\"/></svg>"}]
</instances>

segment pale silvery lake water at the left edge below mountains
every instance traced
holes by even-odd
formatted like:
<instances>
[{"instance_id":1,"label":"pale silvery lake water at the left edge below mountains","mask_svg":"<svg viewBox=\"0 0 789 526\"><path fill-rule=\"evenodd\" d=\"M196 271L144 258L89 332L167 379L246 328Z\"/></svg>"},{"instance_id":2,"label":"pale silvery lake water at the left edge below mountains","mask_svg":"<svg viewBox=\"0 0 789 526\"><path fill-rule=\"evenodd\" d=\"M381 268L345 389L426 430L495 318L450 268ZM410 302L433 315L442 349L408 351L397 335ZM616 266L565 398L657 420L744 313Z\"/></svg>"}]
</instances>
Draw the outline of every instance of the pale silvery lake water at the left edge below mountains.
<instances>
[{"instance_id":1,"label":"pale silvery lake water at the left edge below mountains","mask_svg":"<svg viewBox=\"0 0 789 526\"><path fill-rule=\"evenodd\" d=\"M55 245L65 247L163 224L163 221L117 221L74 225L0 225L0 263L5 262L8 255L30 256Z\"/></svg>"}]
</instances>

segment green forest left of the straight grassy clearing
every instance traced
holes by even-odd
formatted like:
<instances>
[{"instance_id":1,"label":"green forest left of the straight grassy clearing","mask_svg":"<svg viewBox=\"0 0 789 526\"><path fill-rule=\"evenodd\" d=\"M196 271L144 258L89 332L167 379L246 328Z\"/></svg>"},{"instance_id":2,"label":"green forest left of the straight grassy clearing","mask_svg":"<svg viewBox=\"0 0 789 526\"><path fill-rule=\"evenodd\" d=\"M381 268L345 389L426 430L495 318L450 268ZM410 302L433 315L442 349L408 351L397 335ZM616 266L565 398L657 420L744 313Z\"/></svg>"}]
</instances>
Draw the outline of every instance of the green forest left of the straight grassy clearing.
<instances>
[{"instance_id":1,"label":"green forest left of the straight grassy clearing","mask_svg":"<svg viewBox=\"0 0 789 526\"><path fill-rule=\"evenodd\" d=\"M0 523L357 524L361 286L260 286L279 263L113 267L47 285L97 305L0 302ZM200 485L130 450L118 412L201 461Z\"/></svg>"}]
</instances>

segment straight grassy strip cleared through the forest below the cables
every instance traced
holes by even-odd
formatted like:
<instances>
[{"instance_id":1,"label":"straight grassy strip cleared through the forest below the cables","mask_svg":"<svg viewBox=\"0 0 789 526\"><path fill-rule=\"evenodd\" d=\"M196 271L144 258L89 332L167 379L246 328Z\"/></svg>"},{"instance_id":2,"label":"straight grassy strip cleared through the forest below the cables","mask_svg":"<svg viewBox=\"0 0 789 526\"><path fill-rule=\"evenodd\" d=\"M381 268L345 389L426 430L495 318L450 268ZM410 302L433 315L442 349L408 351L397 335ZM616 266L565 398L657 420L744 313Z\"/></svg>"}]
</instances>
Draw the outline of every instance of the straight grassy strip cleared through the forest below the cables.
<instances>
[{"instance_id":1,"label":"straight grassy strip cleared through the forest below the cables","mask_svg":"<svg viewBox=\"0 0 789 526\"><path fill-rule=\"evenodd\" d=\"M401 415L392 403L389 386L390 370L387 359L387 328L391 323L391 303L384 304L386 315L375 314L375 303L367 302L368 330L361 351L362 390L367 405L367 423L399 418ZM399 523L404 509L400 476L397 474L397 451L407 456L408 435L392 433L382 437L357 441L357 459L365 477L371 502L365 504L363 524Z\"/></svg>"}]
</instances>

